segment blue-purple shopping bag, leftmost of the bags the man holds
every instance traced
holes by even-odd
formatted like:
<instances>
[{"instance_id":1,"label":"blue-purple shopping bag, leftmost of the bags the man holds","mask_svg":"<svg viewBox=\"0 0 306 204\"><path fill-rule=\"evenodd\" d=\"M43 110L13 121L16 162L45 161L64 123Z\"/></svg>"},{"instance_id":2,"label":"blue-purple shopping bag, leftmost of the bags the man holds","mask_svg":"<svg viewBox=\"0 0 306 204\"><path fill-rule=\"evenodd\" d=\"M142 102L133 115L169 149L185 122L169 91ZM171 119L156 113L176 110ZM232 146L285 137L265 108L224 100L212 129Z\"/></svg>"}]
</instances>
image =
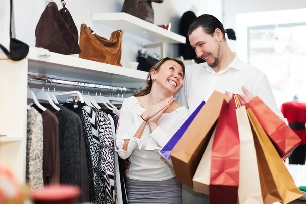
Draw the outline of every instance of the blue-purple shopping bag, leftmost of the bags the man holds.
<instances>
[{"instance_id":1,"label":"blue-purple shopping bag, leftmost of the bags the man holds","mask_svg":"<svg viewBox=\"0 0 306 204\"><path fill-rule=\"evenodd\" d=\"M161 149L160 154L169 162L169 164L172 164L170 153L177 142L181 139L187 128L189 127L190 123L193 121L195 116L199 113L201 108L204 106L205 102L202 101L200 105L195 109L195 111L192 112L192 114L187 118L187 120L182 124L179 130L176 131L176 133L171 137L171 139L167 142L167 144Z\"/></svg>"}]
</instances>

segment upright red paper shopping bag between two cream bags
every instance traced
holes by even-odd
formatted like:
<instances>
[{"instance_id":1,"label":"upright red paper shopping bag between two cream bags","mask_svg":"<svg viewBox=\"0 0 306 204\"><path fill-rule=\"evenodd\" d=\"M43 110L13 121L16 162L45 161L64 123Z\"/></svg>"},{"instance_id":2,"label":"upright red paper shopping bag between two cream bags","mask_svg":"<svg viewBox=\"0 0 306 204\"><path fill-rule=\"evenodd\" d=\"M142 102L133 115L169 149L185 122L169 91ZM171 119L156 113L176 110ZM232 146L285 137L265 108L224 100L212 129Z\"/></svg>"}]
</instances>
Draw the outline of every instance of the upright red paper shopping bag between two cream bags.
<instances>
[{"instance_id":1,"label":"upright red paper shopping bag between two cream bags","mask_svg":"<svg viewBox=\"0 0 306 204\"><path fill-rule=\"evenodd\" d=\"M211 153L210 204L236 203L240 141L235 98L223 101ZM222 195L222 196L220 196Z\"/></svg>"}]
</instances>

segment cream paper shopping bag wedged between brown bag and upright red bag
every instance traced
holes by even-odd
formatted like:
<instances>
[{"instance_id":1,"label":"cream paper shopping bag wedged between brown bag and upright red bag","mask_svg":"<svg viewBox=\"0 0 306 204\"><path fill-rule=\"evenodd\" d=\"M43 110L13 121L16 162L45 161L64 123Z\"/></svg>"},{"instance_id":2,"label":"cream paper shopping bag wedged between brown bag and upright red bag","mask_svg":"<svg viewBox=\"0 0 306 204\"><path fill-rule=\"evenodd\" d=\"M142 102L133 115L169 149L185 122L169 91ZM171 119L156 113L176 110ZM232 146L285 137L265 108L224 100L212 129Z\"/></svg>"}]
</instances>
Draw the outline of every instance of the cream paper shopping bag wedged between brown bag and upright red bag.
<instances>
[{"instance_id":1,"label":"cream paper shopping bag wedged between brown bag and upright red bag","mask_svg":"<svg viewBox=\"0 0 306 204\"><path fill-rule=\"evenodd\" d=\"M193 190L195 192L203 193L206 195L209 195L211 156L212 156L213 141L216 133L215 130L216 129L214 129L212 133L211 139L208 142L205 152L201 158L201 161L192 179Z\"/></svg>"}]
</instances>

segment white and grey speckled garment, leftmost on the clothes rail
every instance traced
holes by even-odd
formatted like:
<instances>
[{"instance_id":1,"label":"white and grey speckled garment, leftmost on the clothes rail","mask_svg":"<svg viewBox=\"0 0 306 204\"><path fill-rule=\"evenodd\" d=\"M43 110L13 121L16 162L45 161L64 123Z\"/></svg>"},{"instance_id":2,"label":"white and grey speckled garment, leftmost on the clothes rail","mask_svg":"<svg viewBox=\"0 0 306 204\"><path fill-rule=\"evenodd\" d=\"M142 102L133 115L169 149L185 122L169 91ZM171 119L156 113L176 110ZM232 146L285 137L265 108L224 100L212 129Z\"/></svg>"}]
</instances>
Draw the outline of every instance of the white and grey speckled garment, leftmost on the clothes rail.
<instances>
[{"instance_id":1,"label":"white and grey speckled garment, leftmost on the clothes rail","mask_svg":"<svg viewBox=\"0 0 306 204\"><path fill-rule=\"evenodd\" d=\"M35 108L27 110L27 144L25 181L31 190L43 188L43 126L42 116Z\"/></svg>"}]
</instances>

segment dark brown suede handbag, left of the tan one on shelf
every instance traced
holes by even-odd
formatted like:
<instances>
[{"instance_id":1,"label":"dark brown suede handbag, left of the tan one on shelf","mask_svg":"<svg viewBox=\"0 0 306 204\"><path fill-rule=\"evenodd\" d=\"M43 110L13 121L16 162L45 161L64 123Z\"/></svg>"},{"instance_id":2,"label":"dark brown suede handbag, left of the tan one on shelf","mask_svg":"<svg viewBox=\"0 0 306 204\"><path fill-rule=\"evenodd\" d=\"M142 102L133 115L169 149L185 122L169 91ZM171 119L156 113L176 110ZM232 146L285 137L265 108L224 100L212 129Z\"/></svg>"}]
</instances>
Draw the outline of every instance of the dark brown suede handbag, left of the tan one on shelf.
<instances>
[{"instance_id":1,"label":"dark brown suede handbag, left of the tan one on shelf","mask_svg":"<svg viewBox=\"0 0 306 204\"><path fill-rule=\"evenodd\" d=\"M66 3L61 1L61 10L51 1L41 14L35 29L35 46L63 55L79 54L81 50L78 44L78 29L65 6Z\"/></svg>"}]
</instances>

